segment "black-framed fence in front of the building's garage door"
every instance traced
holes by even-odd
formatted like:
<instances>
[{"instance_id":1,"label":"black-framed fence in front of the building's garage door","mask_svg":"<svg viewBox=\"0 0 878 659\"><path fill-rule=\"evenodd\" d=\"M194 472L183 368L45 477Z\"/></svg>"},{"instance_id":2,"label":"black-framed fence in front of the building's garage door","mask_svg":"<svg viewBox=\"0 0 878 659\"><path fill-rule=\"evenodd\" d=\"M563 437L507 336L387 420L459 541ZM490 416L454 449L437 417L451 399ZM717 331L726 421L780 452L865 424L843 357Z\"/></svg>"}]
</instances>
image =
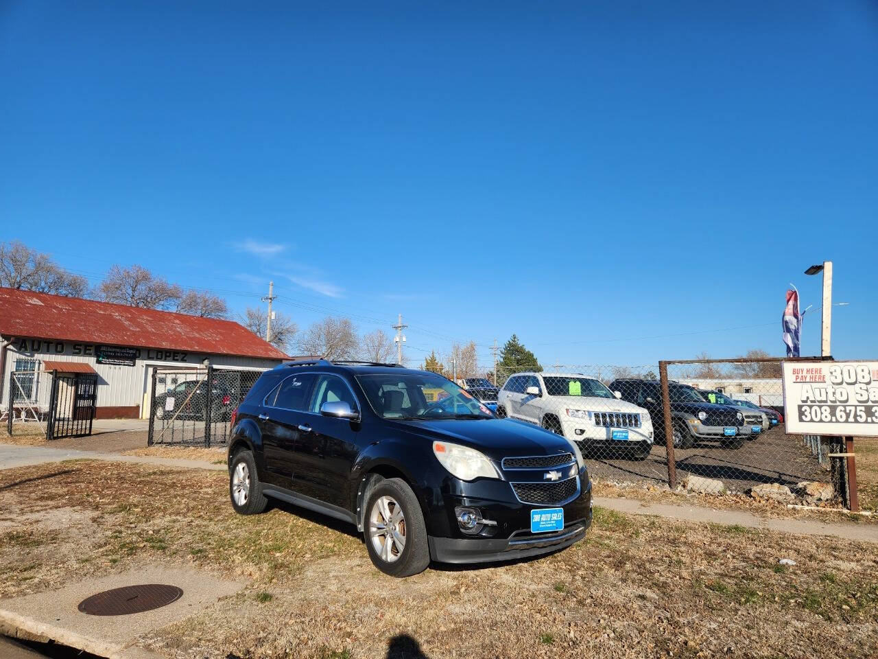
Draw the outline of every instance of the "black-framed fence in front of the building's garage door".
<instances>
[{"instance_id":1,"label":"black-framed fence in front of the building's garage door","mask_svg":"<svg viewBox=\"0 0 878 659\"><path fill-rule=\"evenodd\" d=\"M211 366L156 369L148 444L226 444L232 413L262 373Z\"/></svg>"}]
</instances>

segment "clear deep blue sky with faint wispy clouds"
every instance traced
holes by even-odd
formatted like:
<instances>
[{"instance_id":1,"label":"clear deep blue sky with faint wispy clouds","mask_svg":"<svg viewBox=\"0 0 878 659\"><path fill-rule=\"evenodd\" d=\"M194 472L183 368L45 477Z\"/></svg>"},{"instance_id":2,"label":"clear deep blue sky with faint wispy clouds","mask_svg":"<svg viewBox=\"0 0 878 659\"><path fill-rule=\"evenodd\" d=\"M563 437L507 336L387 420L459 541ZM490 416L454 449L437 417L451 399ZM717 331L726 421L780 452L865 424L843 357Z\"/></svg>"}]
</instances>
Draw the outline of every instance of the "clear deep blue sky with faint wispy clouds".
<instances>
[{"instance_id":1,"label":"clear deep blue sky with faint wispy clouds","mask_svg":"<svg viewBox=\"0 0 878 659\"><path fill-rule=\"evenodd\" d=\"M576 365L781 354L831 259L876 356L874 3L179 5L0 3L0 240Z\"/></svg>"}]
</instances>

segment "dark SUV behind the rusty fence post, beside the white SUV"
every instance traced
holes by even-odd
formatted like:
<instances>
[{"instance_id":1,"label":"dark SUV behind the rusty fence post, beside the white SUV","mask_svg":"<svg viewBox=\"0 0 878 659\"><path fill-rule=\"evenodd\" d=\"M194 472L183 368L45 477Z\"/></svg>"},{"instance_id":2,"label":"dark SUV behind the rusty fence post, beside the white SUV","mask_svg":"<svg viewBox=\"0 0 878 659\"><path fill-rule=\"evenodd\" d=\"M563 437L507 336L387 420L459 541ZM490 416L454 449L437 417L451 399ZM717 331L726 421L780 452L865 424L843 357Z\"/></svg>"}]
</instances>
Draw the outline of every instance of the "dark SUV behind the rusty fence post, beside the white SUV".
<instances>
[{"instance_id":1,"label":"dark SUV behind the rusty fence post, beside the white SUV","mask_svg":"<svg viewBox=\"0 0 878 659\"><path fill-rule=\"evenodd\" d=\"M665 440L665 412L662 409L661 387L656 380L614 380L609 388L619 392L623 401L646 408L652 419L656 438ZM744 445L749 427L744 426L744 415L737 409L706 402L693 387L668 382L671 399L673 445L692 448L698 441L718 441L725 448Z\"/></svg>"}]
</instances>

